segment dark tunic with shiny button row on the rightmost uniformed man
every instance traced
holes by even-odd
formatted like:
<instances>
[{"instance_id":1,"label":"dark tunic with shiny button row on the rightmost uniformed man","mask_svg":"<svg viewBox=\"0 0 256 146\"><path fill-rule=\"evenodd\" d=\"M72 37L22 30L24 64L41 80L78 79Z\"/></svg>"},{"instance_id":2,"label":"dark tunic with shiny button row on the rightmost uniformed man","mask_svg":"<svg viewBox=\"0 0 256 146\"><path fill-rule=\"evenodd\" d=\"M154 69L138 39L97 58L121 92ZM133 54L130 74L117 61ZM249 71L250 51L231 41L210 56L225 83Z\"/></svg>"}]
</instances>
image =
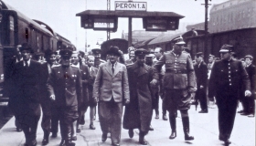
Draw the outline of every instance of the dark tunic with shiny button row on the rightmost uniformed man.
<instances>
[{"instance_id":1,"label":"dark tunic with shiny button row on the rightmost uniformed man","mask_svg":"<svg viewBox=\"0 0 256 146\"><path fill-rule=\"evenodd\" d=\"M214 63L209 78L209 98L216 96L219 99L232 95L232 99L238 99L242 87L251 89L248 74L240 61L222 59Z\"/></svg>"}]
</instances>

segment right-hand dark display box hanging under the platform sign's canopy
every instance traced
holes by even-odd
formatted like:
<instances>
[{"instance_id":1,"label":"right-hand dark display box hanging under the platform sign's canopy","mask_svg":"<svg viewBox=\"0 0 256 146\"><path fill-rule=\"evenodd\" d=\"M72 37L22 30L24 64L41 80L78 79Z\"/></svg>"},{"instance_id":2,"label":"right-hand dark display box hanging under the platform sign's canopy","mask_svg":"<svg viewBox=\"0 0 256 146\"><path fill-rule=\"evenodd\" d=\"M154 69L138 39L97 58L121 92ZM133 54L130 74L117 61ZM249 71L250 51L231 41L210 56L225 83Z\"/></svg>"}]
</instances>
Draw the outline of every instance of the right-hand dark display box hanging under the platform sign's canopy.
<instances>
[{"instance_id":1,"label":"right-hand dark display box hanging under the platform sign's canopy","mask_svg":"<svg viewBox=\"0 0 256 146\"><path fill-rule=\"evenodd\" d=\"M167 31L178 29L178 19L168 17L144 17L146 31Z\"/></svg>"}]
</instances>

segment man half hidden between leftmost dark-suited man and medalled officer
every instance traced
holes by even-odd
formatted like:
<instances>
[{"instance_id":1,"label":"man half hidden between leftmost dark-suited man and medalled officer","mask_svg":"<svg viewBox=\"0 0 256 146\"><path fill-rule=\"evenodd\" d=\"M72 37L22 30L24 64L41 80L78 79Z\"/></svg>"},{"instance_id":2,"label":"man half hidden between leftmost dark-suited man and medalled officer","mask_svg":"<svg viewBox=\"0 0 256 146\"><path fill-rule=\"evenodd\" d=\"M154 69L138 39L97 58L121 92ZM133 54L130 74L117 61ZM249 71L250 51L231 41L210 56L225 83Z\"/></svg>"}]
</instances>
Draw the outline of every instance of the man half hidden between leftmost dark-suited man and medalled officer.
<instances>
[{"instance_id":1,"label":"man half hidden between leftmost dark-suited man and medalled officer","mask_svg":"<svg viewBox=\"0 0 256 146\"><path fill-rule=\"evenodd\" d=\"M41 127L44 131L44 138L42 141L43 145L48 144L48 137L50 133L51 128L51 100L49 99L48 95L48 88L47 88L47 82L48 77L51 72L51 67L54 65L54 62L56 60L56 53L52 50L48 49L45 51L45 57L47 62L43 63L41 65L41 78L40 78L40 84L39 84L39 99L40 104L43 111L43 118L41 122ZM57 126L59 126L57 124ZM58 128L57 128L58 129Z\"/></svg>"}]
</instances>

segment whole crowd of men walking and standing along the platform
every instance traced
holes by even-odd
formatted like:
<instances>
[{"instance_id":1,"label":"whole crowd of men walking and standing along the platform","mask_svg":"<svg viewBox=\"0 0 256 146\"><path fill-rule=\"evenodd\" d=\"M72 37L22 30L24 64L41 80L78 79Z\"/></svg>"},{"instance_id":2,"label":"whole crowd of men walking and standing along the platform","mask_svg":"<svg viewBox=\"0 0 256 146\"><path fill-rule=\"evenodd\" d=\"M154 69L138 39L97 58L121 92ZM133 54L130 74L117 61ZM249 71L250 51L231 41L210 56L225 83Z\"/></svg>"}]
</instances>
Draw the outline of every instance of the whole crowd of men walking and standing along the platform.
<instances>
[{"instance_id":1,"label":"whole crowd of men walking and standing along the platform","mask_svg":"<svg viewBox=\"0 0 256 146\"><path fill-rule=\"evenodd\" d=\"M229 145L238 99L243 106L241 115L255 114L253 57L244 57L244 66L232 57L232 47L223 45L219 51L221 59L210 55L207 65L202 52L197 52L193 61L184 45L179 37L173 50L165 53L161 47L156 47L153 54L144 48L130 47L128 60L123 59L118 47L110 47L106 61L101 60L100 48L91 50L93 56L72 51L70 47L59 52L48 49L43 57L32 56L33 48L27 43L18 46L8 81L9 106L16 117L16 130L24 132L25 145L37 145L42 109L42 144L48 144L50 132L56 138L60 127L59 145L74 146L88 108L89 127L96 129L93 120L98 106L101 141L106 141L111 133L112 145L120 145L123 125L130 138L133 130L139 129L139 143L147 145L144 136L154 130L151 126L154 110L155 119L159 119L160 97L162 119L167 120L166 111L169 113L169 139L177 136L177 110L185 141L193 141L187 110L199 102L199 113L208 113L208 102L213 102L219 109L219 140Z\"/></svg>"}]
</instances>

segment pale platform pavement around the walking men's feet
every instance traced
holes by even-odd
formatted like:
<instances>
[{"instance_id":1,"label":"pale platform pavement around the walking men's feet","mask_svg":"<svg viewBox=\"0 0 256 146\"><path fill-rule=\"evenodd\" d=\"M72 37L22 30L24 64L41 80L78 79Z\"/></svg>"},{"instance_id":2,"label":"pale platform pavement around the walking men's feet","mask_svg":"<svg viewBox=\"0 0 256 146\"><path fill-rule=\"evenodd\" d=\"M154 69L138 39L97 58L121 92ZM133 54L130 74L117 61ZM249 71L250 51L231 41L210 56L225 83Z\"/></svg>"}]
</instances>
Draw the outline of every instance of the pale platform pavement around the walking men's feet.
<instances>
[{"instance_id":1,"label":"pale platform pavement around the walking men's feet","mask_svg":"<svg viewBox=\"0 0 256 146\"><path fill-rule=\"evenodd\" d=\"M160 99L161 100L161 99ZM161 105L161 104L160 104ZM241 106L240 106L241 107ZM240 110L241 108L238 108ZM191 106L189 112L190 117L190 133L195 137L194 141L184 141L184 133L182 128L182 122L180 114L177 118L177 137L175 140L169 140L168 137L171 133L169 121L155 120L155 114L152 120L152 126L155 130L150 131L145 136L145 140L148 141L150 146L221 146L224 145L223 141L219 141L218 130L218 109L209 109L207 114L198 113L195 110L195 106ZM160 109L160 112L161 109ZM40 121L39 121L40 122ZM96 130L89 129L89 112L86 113L86 123L82 126L82 130L78 133L77 146L107 146L111 145L110 137L105 142L101 142L101 128L98 117L96 118L94 125ZM138 143L139 131L134 130L134 137L130 139L128 136L128 130L122 130L121 145L123 146L136 146ZM37 145L41 145L43 138L43 131L38 126L37 129ZM60 142L60 134L57 138L49 139L48 146L58 146ZM232 143L230 146L255 146L255 118L248 118L247 116L241 116L237 114L234 129L230 138ZM0 130L0 146L23 146L25 143L25 137L23 132L16 132L15 120L12 118L5 126Z\"/></svg>"}]
</instances>

